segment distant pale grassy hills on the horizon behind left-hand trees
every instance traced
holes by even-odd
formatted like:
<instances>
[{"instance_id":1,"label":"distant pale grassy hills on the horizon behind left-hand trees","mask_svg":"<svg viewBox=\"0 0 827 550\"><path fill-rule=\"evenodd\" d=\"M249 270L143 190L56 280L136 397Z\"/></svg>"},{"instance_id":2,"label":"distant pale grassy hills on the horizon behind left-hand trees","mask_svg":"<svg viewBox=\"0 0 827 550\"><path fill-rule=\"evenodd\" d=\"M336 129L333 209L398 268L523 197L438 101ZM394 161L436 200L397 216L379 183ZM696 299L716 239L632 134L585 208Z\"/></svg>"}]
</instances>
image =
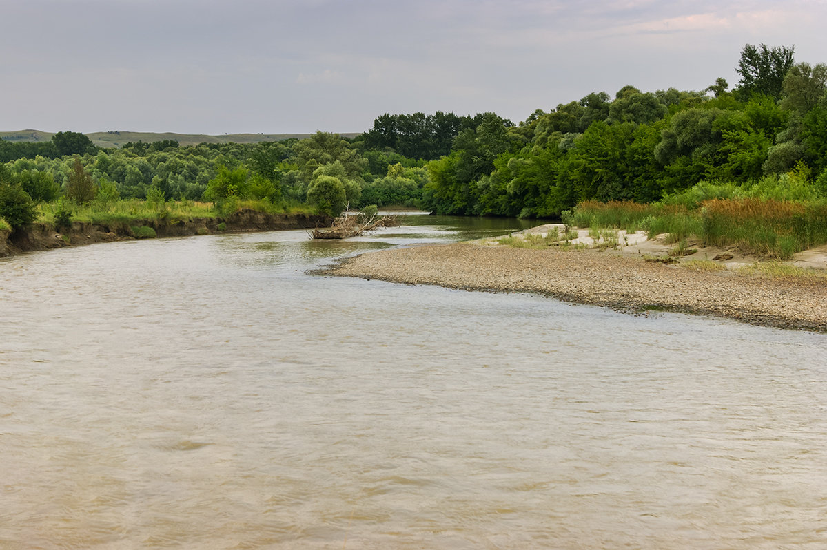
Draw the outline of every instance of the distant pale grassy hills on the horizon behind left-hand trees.
<instances>
[{"instance_id":1,"label":"distant pale grassy hills on the horizon behind left-hand trees","mask_svg":"<svg viewBox=\"0 0 827 550\"><path fill-rule=\"evenodd\" d=\"M49 141L53 132L41 130L17 130L13 132L0 131L0 139L7 141ZM281 141L290 138L302 140L313 134L174 134L172 132L92 132L87 134L94 145L98 147L121 147L124 144L136 141L151 143L153 141L174 140L180 145L198 145L199 143L259 143L261 141ZM355 137L354 134L339 134L342 137Z\"/></svg>"}]
</instances>

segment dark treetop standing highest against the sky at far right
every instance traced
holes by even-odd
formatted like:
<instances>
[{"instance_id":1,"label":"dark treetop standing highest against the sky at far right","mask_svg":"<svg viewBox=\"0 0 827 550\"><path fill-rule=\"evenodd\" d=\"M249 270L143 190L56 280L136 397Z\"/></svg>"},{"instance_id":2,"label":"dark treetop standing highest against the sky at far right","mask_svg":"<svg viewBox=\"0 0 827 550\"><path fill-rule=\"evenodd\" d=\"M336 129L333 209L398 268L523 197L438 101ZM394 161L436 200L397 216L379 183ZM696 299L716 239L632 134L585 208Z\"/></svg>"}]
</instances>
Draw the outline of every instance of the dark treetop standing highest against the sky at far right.
<instances>
[{"instance_id":1,"label":"dark treetop standing highest against the sky at far right","mask_svg":"<svg viewBox=\"0 0 827 550\"><path fill-rule=\"evenodd\" d=\"M744 45L738 69L735 69L741 75L736 92L743 99L756 94L772 97L776 101L780 99L795 50L795 46L768 48L765 44Z\"/></svg>"}]
</instances>

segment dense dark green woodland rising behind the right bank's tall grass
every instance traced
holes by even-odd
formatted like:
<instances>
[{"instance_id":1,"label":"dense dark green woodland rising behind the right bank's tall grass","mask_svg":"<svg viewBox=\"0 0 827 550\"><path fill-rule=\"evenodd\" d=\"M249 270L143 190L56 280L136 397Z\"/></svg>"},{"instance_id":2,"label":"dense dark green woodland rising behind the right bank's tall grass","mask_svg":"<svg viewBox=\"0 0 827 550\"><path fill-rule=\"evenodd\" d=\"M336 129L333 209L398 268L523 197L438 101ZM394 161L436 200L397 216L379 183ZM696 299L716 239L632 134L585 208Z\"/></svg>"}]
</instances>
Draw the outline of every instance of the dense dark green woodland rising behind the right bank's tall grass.
<instances>
[{"instance_id":1,"label":"dense dark green woodland rising behind the right bank's tall grass","mask_svg":"<svg viewBox=\"0 0 827 550\"><path fill-rule=\"evenodd\" d=\"M791 47L747 45L737 70L731 91L723 78L702 92L626 86L614 99L592 93L504 131L480 124L428 164L426 205L559 216L585 200L653 202L699 183L824 197L827 67L796 64ZM791 173L803 184L793 189Z\"/></svg>"}]
</instances>

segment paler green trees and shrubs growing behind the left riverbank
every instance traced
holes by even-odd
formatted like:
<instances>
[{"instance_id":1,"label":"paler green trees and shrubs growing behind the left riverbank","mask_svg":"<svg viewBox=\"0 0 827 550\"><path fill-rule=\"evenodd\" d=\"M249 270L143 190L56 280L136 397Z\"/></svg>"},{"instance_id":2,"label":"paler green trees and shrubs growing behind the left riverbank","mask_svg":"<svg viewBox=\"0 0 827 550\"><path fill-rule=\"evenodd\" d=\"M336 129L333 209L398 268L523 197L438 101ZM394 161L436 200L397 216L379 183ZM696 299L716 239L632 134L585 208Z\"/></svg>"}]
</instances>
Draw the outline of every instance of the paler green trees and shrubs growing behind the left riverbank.
<instances>
[{"instance_id":1,"label":"paler green trees and shrubs growing behind the left riverbank","mask_svg":"<svg viewBox=\"0 0 827 550\"><path fill-rule=\"evenodd\" d=\"M60 133L65 134L88 140L82 134ZM319 192L312 192L313 188L324 181L319 188L341 187L345 205L363 206L367 200L380 206L416 206L428 183L425 160L388 148L367 149L364 140L327 132L306 140L254 145L180 146L165 140L95 149L76 143L70 154L63 155L55 154L61 144L56 136L48 144L50 154L41 154L44 144L30 144L38 145L31 150L22 146L26 144L11 144L14 158L0 164L3 181L19 187L34 202L64 197L84 203L104 197L106 203L153 195L217 203L232 198L302 203L317 200ZM91 186L79 187L77 181Z\"/></svg>"}]
</instances>

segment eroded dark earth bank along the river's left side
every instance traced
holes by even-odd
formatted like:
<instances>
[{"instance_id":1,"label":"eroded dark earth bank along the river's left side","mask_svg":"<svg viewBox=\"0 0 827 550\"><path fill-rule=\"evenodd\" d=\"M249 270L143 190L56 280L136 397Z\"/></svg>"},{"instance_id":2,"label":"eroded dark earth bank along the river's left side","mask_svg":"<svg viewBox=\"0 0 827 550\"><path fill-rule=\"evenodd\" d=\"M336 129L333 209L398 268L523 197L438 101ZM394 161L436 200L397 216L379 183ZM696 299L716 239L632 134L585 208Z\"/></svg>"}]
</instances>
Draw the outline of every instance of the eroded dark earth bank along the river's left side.
<instances>
[{"instance_id":1,"label":"eroded dark earth bank along the river's left side","mask_svg":"<svg viewBox=\"0 0 827 550\"><path fill-rule=\"evenodd\" d=\"M163 238L313 229L330 225L331 222L329 216L268 214L245 209L226 217L197 217L187 220L146 218L101 224L74 221L71 227L62 231L56 230L54 225L36 223L13 232L0 230L0 258L37 250L133 240L139 238L134 230L136 227L151 228L156 238Z\"/></svg>"}]
</instances>

